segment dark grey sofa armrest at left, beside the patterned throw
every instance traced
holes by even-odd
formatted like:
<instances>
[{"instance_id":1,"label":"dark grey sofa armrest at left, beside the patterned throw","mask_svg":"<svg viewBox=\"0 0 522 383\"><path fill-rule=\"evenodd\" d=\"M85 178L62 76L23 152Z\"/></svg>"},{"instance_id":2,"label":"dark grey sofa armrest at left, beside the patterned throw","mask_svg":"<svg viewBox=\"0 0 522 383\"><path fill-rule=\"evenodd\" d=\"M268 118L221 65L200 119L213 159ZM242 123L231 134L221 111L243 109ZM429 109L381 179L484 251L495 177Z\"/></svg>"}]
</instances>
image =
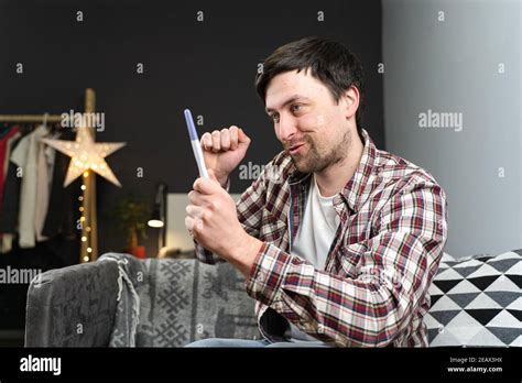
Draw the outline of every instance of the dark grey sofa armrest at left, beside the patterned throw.
<instances>
[{"instance_id":1,"label":"dark grey sofa armrest at left, beside the patterned throw","mask_svg":"<svg viewBox=\"0 0 522 383\"><path fill-rule=\"evenodd\" d=\"M118 265L50 270L30 284L25 347L106 347L113 327Z\"/></svg>"}]
</instances>

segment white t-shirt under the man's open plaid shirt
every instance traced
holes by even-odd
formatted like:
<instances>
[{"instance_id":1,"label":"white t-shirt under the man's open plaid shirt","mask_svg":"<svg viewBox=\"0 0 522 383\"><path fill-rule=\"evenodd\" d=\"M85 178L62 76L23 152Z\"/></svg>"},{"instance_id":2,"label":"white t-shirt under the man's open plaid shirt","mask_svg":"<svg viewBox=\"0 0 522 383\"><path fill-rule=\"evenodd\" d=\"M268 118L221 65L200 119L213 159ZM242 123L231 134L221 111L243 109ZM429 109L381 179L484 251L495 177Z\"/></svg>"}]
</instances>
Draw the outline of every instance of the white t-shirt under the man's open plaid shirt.
<instances>
[{"instance_id":1,"label":"white t-shirt under the man's open plaid shirt","mask_svg":"<svg viewBox=\"0 0 522 383\"><path fill-rule=\"evenodd\" d=\"M323 197L320 195L315 175L313 175L309 184L304 217L295 236L291 253L308 261L315 269L325 270L326 256L340 219L334 208L335 196ZM297 329L293 324L290 324L290 331L285 336L291 341L320 342Z\"/></svg>"}]
</instances>

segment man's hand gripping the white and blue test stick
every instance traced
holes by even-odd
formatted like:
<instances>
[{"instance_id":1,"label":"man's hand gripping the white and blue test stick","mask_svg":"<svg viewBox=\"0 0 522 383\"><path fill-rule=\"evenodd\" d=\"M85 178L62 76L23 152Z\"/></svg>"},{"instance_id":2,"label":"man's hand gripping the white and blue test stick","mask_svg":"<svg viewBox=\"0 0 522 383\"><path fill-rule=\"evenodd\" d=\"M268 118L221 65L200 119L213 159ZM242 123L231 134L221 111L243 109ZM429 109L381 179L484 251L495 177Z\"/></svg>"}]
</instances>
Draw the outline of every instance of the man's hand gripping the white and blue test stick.
<instances>
[{"instance_id":1,"label":"man's hand gripping the white and blue test stick","mask_svg":"<svg viewBox=\"0 0 522 383\"><path fill-rule=\"evenodd\" d=\"M236 203L219 185L213 169L208 175L210 179L197 178L188 193L185 227L199 244L248 277L262 242L243 230Z\"/></svg>"}]
</instances>

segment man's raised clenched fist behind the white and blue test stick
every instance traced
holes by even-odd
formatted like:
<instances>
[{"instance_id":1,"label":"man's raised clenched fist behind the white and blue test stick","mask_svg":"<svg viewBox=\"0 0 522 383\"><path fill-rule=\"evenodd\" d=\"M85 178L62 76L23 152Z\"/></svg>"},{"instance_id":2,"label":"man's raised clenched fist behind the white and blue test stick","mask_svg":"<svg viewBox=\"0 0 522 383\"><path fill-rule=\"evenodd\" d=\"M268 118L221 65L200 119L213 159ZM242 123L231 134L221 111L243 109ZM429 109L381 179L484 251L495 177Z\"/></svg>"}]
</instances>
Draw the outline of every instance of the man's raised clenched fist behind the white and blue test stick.
<instances>
[{"instance_id":1,"label":"man's raised clenched fist behind the white and blue test stick","mask_svg":"<svg viewBox=\"0 0 522 383\"><path fill-rule=\"evenodd\" d=\"M228 175L244 158L250 139L242 129L232 125L203 134L200 143L207 169L213 169L219 184L225 187Z\"/></svg>"}]
</instances>

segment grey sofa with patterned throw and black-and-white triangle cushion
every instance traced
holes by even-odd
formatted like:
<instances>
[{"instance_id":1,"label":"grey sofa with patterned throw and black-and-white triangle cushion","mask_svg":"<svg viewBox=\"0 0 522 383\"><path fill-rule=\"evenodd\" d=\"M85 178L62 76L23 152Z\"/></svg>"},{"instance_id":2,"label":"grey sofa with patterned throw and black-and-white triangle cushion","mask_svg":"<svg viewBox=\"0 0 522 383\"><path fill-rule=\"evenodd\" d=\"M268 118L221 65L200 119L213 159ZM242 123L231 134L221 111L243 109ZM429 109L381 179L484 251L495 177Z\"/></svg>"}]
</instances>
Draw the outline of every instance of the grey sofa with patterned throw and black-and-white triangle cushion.
<instances>
[{"instance_id":1,"label":"grey sofa with patterned throw and black-and-white triangle cushion","mask_svg":"<svg viewBox=\"0 0 522 383\"><path fill-rule=\"evenodd\" d=\"M425 316L431 347L522 344L522 251L444 253ZM254 302L229 264L108 253L47 271L28 291L26 347L183 347L259 339Z\"/></svg>"}]
</instances>

